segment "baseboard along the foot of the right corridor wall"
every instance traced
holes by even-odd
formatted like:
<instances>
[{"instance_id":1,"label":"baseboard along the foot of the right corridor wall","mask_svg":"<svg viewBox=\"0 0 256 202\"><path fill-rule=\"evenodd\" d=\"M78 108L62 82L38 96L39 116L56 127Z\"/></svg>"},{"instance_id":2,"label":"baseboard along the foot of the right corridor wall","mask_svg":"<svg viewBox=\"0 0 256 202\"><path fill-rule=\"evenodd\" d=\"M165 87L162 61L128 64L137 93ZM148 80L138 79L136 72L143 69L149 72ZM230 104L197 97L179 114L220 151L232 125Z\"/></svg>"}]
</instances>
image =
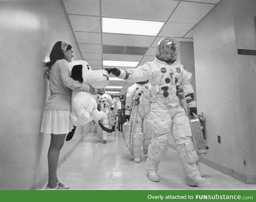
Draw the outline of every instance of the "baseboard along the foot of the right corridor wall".
<instances>
[{"instance_id":1,"label":"baseboard along the foot of the right corridor wall","mask_svg":"<svg viewBox=\"0 0 256 202\"><path fill-rule=\"evenodd\" d=\"M172 145L170 143L168 143L168 147L170 147L171 149L176 150L176 146ZM234 171L232 169L229 169L223 165L220 165L218 163L215 163L213 161L210 161L208 159L205 158L200 158L200 163L203 163L204 165L207 165L213 169L215 169L216 171L220 171L232 178L235 178L236 180L239 180L241 182L244 182L245 184L256 184L256 176L251 176L250 179L248 179L246 177L246 175L242 174L242 173L238 173L237 171Z\"/></svg>"}]
</instances>

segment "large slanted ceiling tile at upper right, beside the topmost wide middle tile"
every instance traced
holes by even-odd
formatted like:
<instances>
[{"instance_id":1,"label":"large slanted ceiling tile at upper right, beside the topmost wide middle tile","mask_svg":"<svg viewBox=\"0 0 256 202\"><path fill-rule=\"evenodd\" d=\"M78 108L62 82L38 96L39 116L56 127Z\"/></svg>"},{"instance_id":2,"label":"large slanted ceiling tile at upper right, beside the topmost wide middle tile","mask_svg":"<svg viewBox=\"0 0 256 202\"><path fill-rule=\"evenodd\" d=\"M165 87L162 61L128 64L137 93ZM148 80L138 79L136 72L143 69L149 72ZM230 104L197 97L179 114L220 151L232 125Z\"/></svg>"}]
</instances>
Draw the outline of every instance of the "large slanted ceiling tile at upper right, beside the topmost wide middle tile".
<instances>
[{"instance_id":1,"label":"large slanted ceiling tile at upper right, beside the topmost wide middle tile","mask_svg":"<svg viewBox=\"0 0 256 202\"><path fill-rule=\"evenodd\" d=\"M215 5L180 2L168 22L198 23Z\"/></svg>"}]
</instances>

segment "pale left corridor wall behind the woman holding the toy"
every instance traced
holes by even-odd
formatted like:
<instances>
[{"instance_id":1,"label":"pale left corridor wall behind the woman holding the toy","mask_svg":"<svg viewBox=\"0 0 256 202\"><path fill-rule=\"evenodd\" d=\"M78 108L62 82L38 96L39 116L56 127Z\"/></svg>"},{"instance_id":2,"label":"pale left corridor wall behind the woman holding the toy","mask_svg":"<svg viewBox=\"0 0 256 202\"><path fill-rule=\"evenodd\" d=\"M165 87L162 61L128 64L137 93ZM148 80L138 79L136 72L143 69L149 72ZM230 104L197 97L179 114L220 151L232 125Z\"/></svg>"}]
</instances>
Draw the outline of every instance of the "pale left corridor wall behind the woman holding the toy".
<instances>
[{"instance_id":1,"label":"pale left corridor wall behind the woman holding the toy","mask_svg":"<svg viewBox=\"0 0 256 202\"><path fill-rule=\"evenodd\" d=\"M57 41L82 59L61 0L0 1L0 190L40 188L47 178L50 134L40 133L48 80L45 63ZM92 124L77 129L68 157Z\"/></svg>"}]
</instances>

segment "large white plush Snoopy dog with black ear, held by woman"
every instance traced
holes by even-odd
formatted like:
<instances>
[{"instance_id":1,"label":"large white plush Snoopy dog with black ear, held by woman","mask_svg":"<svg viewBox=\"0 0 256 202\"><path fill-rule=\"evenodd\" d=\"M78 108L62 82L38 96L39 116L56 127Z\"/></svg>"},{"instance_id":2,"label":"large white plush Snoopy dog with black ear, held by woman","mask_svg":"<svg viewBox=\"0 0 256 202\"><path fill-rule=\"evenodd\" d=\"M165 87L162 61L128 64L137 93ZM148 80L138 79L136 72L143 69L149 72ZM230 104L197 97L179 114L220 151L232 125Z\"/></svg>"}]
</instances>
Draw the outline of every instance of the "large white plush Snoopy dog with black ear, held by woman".
<instances>
[{"instance_id":1,"label":"large white plush Snoopy dog with black ear, held by woman","mask_svg":"<svg viewBox=\"0 0 256 202\"><path fill-rule=\"evenodd\" d=\"M108 71L92 70L90 65L83 60L68 63L71 78L89 84L93 88L104 88L108 85ZM70 119L74 126L82 126L105 118L105 113L97 110L97 102L90 92L73 90L72 108Z\"/></svg>"}]
</instances>

